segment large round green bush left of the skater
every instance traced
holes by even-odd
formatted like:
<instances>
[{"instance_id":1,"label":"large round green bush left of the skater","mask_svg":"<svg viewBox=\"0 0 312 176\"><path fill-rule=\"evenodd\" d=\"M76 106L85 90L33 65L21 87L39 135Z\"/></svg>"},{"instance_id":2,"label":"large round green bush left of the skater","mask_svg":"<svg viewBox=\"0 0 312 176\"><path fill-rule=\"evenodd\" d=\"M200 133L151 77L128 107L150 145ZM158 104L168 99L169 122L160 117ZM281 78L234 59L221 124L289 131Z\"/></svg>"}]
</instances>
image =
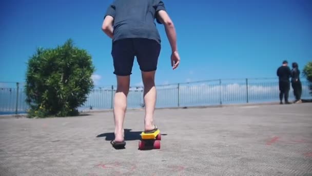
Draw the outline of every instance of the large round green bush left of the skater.
<instances>
[{"instance_id":1,"label":"large round green bush left of the skater","mask_svg":"<svg viewBox=\"0 0 312 176\"><path fill-rule=\"evenodd\" d=\"M91 56L71 39L52 49L38 48L26 72L29 117L78 115L77 108L93 89Z\"/></svg>"}]
</instances>

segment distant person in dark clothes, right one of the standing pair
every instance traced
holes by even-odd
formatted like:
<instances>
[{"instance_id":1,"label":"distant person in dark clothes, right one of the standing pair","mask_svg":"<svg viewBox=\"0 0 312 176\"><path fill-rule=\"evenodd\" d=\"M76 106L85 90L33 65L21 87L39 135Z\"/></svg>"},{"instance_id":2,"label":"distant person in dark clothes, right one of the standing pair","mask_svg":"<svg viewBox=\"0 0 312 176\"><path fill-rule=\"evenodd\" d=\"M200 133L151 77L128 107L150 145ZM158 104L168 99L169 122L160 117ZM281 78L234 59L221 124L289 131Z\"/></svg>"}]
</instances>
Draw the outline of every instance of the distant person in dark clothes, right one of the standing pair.
<instances>
[{"instance_id":1,"label":"distant person in dark clothes, right one of the standing pair","mask_svg":"<svg viewBox=\"0 0 312 176\"><path fill-rule=\"evenodd\" d=\"M291 86L294 89L295 103L301 103L302 84L300 81L300 71L296 62L293 63L293 69L291 69Z\"/></svg>"}]
</instances>

